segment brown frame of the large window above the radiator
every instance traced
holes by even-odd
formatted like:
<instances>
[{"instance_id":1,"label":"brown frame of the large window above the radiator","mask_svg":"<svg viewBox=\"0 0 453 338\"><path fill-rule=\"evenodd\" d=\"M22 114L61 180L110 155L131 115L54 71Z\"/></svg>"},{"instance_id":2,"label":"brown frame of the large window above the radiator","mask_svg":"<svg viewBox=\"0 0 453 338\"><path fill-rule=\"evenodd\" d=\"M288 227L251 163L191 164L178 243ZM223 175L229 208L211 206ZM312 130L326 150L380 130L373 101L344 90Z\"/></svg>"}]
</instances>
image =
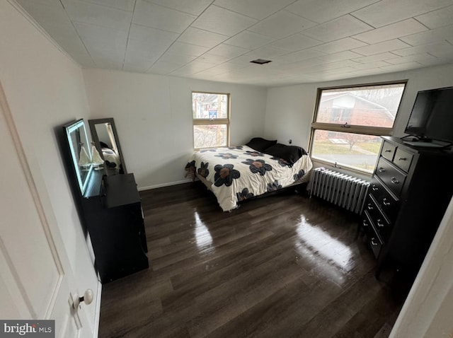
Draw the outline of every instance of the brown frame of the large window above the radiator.
<instances>
[{"instance_id":1,"label":"brown frame of the large window above the radiator","mask_svg":"<svg viewBox=\"0 0 453 338\"><path fill-rule=\"evenodd\" d=\"M394 127L396 124L396 120L398 118L398 113L401 107L401 102L403 101L404 93L406 92L408 79L405 80L396 80L396 81L386 81L386 82L376 82L376 83L359 83L349 86L331 86L331 87L320 87L317 89L316 93L316 103L314 107L314 114L313 120L311 122L310 128L310 138L309 138L309 156L313 161L316 161L321 164L325 165L332 165L335 168L345 168L352 172L360 173L361 175L369 175L371 176L372 173L369 173L365 170L360 170L360 168L355 168L350 165L340 164L338 165L337 162L331 162L316 156L313 156L313 143L314 143L314 134L316 130L325 130L327 132L342 132L342 133L350 133L350 134L365 134L370 136L391 136L394 132ZM336 124L336 123L326 123L326 122L316 122L316 118L318 117L319 112L319 105L321 103L321 95L323 91L326 90L335 90L335 89L345 89L345 88L360 88L360 87L370 87L370 86L391 86L395 84L404 85L403 93L401 94L401 100L398 103L398 108L396 110L395 120L391 128L389 127L371 127L371 126L360 126L354 124ZM376 165L376 163L374 163Z\"/></svg>"}]
</instances>

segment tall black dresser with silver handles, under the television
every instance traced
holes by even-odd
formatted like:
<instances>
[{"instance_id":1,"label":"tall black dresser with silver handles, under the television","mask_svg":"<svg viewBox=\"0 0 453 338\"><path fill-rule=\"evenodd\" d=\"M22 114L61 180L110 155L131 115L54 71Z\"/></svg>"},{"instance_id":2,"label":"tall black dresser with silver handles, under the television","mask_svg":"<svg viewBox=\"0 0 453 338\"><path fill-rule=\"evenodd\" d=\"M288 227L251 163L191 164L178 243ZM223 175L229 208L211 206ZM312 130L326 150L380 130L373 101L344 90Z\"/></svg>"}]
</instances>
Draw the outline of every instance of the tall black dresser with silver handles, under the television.
<instances>
[{"instance_id":1,"label":"tall black dresser with silver handles, under the television","mask_svg":"<svg viewBox=\"0 0 453 338\"><path fill-rule=\"evenodd\" d=\"M453 194L453 153L384 136L361 226L376 276L398 269L415 279Z\"/></svg>"}]
</instances>

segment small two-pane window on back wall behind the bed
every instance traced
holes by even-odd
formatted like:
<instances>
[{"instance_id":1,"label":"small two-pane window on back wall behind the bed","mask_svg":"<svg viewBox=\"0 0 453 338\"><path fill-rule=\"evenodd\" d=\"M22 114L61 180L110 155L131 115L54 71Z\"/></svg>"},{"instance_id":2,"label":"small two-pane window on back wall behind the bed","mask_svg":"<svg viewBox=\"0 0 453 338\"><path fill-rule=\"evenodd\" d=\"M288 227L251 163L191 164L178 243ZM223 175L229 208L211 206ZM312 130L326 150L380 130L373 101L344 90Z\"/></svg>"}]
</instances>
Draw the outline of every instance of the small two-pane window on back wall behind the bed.
<instances>
[{"instance_id":1,"label":"small two-pane window on back wall behind the bed","mask_svg":"<svg viewBox=\"0 0 453 338\"><path fill-rule=\"evenodd\" d=\"M229 101L229 94L192 93L195 149L229 146Z\"/></svg>"}]
</instances>

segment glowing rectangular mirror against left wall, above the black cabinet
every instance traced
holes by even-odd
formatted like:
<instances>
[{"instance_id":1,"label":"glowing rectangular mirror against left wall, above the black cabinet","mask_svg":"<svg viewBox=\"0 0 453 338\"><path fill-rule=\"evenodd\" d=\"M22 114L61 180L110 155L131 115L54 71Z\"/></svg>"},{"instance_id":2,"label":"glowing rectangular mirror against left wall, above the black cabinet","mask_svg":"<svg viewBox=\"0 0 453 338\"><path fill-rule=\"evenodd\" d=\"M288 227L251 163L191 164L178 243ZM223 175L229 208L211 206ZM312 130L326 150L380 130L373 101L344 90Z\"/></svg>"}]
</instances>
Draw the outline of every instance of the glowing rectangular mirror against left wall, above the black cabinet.
<instances>
[{"instance_id":1,"label":"glowing rectangular mirror against left wall, above the black cabinet","mask_svg":"<svg viewBox=\"0 0 453 338\"><path fill-rule=\"evenodd\" d=\"M88 141L88 134L84 120L77 120L63 126L66 132L69 151L71 152L72 163L76 172L77 181L81 194L84 194L93 163L91 161L91 146Z\"/></svg>"}]
</instances>

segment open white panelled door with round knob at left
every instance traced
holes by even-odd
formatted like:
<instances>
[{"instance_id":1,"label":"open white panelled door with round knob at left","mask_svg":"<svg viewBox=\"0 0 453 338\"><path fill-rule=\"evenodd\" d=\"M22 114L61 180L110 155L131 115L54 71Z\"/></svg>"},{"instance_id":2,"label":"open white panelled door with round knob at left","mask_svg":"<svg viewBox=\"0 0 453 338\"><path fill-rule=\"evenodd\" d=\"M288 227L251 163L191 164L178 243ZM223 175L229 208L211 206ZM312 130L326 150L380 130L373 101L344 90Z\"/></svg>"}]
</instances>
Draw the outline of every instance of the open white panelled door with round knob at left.
<instances>
[{"instance_id":1,"label":"open white panelled door with round knob at left","mask_svg":"<svg viewBox=\"0 0 453 338\"><path fill-rule=\"evenodd\" d=\"M0 85L0 319L55 320L55 337L93 337L53 211L45 210ZM84 291L81 291L84 292ZM93 305L91 305L93 306Z\"/></svg>"}]
</instances>

